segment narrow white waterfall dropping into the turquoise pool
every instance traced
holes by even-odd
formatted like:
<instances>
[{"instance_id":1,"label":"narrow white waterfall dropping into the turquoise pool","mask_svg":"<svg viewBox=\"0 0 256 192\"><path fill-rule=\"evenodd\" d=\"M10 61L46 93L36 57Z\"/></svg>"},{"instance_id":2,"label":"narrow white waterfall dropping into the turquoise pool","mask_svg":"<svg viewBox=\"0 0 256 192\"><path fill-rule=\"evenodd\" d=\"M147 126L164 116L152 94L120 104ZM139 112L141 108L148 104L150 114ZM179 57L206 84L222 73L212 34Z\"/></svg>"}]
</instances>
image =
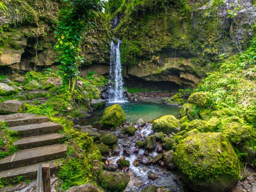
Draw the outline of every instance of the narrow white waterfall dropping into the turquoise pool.
<instances>
[{"instance_id":1,"label":"narrow white waterfall dropping into the turquoise pool","mask_svg":"<svg viewBox=\"0 0 256 192\"><path fill-rule=\"evenodd\" d=\"M125 102L122 77L122 64L120 60L120 40L118 44L111 42L110 49L110 87L108 90L109 102Z\"/></svg>"}]
</instances>

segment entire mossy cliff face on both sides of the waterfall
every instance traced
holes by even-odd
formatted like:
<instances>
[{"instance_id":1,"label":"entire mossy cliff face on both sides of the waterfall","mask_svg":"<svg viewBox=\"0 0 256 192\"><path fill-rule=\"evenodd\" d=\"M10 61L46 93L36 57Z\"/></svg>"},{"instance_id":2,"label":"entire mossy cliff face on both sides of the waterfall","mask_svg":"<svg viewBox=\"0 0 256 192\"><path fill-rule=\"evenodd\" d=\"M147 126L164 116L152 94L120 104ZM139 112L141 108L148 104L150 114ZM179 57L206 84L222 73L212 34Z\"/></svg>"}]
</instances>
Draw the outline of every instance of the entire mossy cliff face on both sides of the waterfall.
<instances>
[{"instance_id":1,"label":"entire mossy cliff face on both sides of the waterfall","mask_svg":"<svg viewBox=\"0 0 256 192\"><path fill-rule=\"evenodd\" d=\"M54 20L63 1L3 2L8 11L0 13L1 72L56 68ZM194 88L213 62L248 46L255 27L254 4L250 0L109 0L95 28L84 34L81 73L108 74L113 33L122 40L126 84Z\"/></svg>"}]
</instances>

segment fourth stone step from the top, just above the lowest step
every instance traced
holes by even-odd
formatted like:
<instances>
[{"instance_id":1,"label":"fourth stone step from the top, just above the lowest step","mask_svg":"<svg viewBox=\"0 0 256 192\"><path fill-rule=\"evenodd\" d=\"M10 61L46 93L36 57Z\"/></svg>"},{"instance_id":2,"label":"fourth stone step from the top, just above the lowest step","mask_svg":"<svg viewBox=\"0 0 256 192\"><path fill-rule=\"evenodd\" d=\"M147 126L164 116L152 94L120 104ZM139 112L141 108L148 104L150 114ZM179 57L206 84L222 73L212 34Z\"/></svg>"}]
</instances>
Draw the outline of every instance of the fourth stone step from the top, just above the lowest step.
<instances>
[{"instance_id":1,"label":"fourth stone step from the top, just above the lowest step","mask_svg":"<svg viewBox=\"0 0 256 192\"><path fill-rule=\"evenodd\" d=\"M66 151L65 144L21 150L0 160L0 171L62 158Z\"/></svg>"}]
</instances>

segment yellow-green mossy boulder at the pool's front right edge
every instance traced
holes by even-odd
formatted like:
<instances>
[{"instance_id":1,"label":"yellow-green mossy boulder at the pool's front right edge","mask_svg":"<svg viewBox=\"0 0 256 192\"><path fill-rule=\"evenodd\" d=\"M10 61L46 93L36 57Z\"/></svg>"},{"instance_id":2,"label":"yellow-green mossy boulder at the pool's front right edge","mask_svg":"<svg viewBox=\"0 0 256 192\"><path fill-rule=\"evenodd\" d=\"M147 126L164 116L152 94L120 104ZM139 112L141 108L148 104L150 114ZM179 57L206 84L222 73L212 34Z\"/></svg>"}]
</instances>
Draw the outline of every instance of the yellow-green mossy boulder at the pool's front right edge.
<instances>
[{"instance_id":1,"label":"yellow-green mossy boulder at the pool's front right edge","mask_svg":"<svg viewBox=\"0 0 256 192\"><path fill-rule=\"evenodd\" d=\"M163 132L165 134L170 134L172 132L177 133L179 131L178 127L179 122L172 115L163 116L153 122L154 132Z\"/></svg>"}]
</instances>

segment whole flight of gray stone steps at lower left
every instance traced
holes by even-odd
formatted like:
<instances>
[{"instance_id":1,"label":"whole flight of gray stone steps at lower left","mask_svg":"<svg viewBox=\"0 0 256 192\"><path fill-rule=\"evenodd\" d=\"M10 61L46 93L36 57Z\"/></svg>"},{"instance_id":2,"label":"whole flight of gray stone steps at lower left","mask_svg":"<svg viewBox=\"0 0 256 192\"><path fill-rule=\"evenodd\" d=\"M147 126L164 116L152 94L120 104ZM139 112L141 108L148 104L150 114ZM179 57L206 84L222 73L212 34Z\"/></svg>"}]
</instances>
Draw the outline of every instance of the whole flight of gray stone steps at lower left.
<instances>
[{"instance_id":1,"label":"whole flight of gray stone steps at lower left","mask_svg":"<svg viewBox=\"0 0 256 192\"><path fill-rule=\"evenodd\" d=\"M8 129L17 131L20 139L14 144L20 151L0 160L0 178L11 180L17 176L35 179L38 165L50 164L50 173L55 174L61 166L61 158L66 155L67 147L61 144L64 135L58 123L49 122L46 116L30 113L1 115L0 121L6 122Z\"/></svg>"}]
</instances>

